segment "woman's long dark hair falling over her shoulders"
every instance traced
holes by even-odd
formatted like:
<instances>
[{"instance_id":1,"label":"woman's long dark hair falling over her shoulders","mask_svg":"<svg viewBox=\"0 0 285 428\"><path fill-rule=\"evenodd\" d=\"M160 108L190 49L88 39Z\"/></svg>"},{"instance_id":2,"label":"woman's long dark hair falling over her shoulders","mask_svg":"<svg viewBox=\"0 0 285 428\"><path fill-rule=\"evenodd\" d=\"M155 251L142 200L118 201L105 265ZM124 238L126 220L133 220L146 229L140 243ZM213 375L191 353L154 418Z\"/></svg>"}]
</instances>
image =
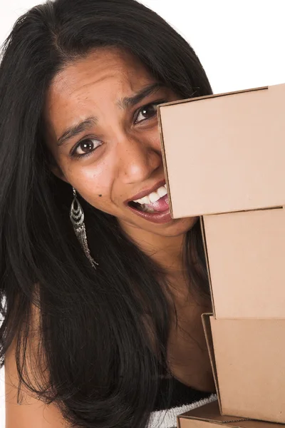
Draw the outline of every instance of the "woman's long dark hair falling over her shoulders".
<instances>
[{"instance_id":1,"label":"woman's long dark hair falling over her shoulders","mask_svg":"<svg viewBox=\"0 0 285 428\"><path fill-rule=\"evenodd\" d=\"M181 98L212 93L187 41L135 0L47 1L16 21L0 65L0 358L2 366L16 340L19 392L25 384L76 427L145 428L169 370L165 272L115 217L81 200L99 263L91 267L69 220L72 188L51 173L44 132L53 77L106 46L128 49ZM207 296L199 222L183 260L190 285ZM27 367L31 337L38 346Z\"/></svg>"}]
</instances>

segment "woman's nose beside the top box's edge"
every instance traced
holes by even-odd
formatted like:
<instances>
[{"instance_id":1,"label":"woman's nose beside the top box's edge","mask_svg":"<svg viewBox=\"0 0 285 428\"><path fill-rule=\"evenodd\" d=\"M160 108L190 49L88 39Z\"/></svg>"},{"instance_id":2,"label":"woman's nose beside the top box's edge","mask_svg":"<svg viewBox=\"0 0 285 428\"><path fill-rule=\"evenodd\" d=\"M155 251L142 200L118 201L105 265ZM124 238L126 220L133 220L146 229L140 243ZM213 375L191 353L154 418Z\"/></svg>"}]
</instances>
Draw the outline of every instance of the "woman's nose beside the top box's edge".
<instances>
[{"instance_id":1,"label":"woman's nose beside the top box's edge","mask_svg":"<svg viewBox=\"0 0 285 428\"><path fill-rule=\"evenodd\" d=\"M122 183L142 183L153 175L158 175L158 170L162 168L160 145L147 141L146 138L125 136L118 147Z\"/></svg>"}]
</instances>

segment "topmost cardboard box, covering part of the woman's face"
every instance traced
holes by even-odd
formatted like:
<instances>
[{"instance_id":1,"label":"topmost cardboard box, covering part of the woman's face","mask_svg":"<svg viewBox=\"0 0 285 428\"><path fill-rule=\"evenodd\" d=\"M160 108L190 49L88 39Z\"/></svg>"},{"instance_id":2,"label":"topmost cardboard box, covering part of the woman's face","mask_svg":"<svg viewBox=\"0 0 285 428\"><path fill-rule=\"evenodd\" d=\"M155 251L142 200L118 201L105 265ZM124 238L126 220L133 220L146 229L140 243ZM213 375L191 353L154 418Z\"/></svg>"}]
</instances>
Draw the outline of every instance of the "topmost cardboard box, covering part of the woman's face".
<instances>
[{"instance_id":1,"label":"topmost cardboard box, covering part of the woman's face","mask_svg":"<svg viewBox=\"0 0 285 428\"><path fill-rule=\"evenodd\" d=\"M285 83L157 107L172 218L285 205Z\"/></svg>"}]
</instances>

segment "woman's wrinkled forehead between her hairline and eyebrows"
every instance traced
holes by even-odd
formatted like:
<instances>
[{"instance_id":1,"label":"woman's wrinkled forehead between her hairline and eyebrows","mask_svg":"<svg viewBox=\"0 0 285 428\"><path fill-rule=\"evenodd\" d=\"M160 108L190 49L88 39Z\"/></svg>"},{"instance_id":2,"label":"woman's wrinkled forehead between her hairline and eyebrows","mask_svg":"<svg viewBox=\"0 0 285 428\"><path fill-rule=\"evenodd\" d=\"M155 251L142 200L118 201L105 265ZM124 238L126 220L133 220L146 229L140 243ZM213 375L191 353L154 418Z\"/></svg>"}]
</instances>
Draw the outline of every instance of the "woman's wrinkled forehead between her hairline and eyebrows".
<instances>
[{"instance_id":1,"label":"woman's wrinkled forehead between her hairline and eyebrows","mask_svg":"<svg viewBox=\"0 0 285 428\"><path fill-rule=\"evenodd\" d=\"M96 49L59 72L46 94L46 113L68 106L79 108L96 99L120 98L153 80L141 61L128 51L117 48ZM57 116L57 115L56 115Z\"/></svg>"}]
</instances>

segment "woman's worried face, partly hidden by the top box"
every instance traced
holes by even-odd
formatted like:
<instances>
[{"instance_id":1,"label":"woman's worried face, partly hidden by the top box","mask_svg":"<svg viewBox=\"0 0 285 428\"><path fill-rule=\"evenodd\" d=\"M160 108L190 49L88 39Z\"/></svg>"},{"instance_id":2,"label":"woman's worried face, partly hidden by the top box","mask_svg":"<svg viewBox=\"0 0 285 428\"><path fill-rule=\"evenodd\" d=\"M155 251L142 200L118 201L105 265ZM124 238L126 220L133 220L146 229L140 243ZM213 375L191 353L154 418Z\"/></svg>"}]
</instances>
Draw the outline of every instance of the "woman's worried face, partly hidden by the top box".
<instances>
[{"instance_id":1,"label":"woman's worried face, partly hidden by the top box","mask_svg":"<svg viewBox=\"0 0 285 428\"><path fill-rule=\"evenodd\" d=\"M53 172L129 233L185 233L194 218L143 216L126 202L165 183L156 106L176 99L127 51L97 49L68 65L46 98L48 146L58 165ZM160 201L155 207L165 210Z\"/></svg>"}]
</instances>

